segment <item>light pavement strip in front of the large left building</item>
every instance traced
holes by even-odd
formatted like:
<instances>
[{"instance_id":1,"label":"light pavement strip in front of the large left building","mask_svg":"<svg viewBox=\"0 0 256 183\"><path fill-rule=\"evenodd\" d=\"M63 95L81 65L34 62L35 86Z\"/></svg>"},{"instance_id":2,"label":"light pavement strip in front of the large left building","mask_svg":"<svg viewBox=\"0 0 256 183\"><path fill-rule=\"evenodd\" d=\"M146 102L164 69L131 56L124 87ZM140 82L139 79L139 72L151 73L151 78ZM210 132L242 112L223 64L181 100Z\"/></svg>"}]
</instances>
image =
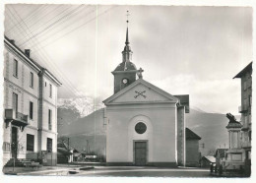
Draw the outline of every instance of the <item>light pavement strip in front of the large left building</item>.
<instances>
[{"instance_id":1,"label":"light pavement strip in front of the large left building","mask_svg":"<svg viewBox=\"0 0 256 183\"><path fill-rule=\"evenodd\" d=\"M68 175L80 170L90 170L94 166L57 164L56 166L32 167L4 167L3 173L6 175Z\"/></svg>"}]
</instances>

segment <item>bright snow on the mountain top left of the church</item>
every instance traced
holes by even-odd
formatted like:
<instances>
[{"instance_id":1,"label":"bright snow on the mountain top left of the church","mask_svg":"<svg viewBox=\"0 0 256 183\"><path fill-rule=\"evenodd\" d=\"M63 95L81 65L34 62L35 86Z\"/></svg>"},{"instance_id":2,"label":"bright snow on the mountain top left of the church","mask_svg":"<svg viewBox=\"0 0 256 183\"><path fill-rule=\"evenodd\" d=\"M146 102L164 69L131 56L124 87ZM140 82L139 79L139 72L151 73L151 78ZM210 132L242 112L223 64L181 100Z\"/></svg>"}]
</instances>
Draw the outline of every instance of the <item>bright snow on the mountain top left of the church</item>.
<instances>
[{"instance_id":1,"label":"bright snow on the mountain top left of the church","mask_svg":"<svg viewBox=\"0 0 256 183\"><path fill-rule=\"evenodd\" d=\"M72 97L72 98L59 98L58 108L66 108L77 111L81 117L85 117L99 108L104 107L102 102L98 102L93 97Z\"/></svg>"}]
</instances>

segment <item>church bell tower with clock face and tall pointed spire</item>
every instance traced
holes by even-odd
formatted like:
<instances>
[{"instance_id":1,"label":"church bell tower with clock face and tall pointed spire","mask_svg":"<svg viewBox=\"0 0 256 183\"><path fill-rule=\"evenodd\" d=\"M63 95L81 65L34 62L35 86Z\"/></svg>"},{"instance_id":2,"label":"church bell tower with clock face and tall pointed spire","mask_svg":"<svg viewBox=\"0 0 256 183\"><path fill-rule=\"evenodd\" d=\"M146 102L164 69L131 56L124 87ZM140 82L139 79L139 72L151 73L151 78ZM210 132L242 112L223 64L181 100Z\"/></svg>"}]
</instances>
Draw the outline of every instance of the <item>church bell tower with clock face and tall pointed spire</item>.
<instances>
[{"instance_id":1,"label":"church bell tower with clock face and tall pointed spire","mask_svg":"<svg viewBox=\"0 0 256 183\"><path fill-rule=\"evenodd\" d=\"M126 40L124 50L122 51L122 62L112 72L114 75L114 93L121 91L125 87L135 82L136 74L138 73L136 66L131 62L133 52L129 42L128 16L129 11L127 11Z\"/></svg>"}]
</instances>

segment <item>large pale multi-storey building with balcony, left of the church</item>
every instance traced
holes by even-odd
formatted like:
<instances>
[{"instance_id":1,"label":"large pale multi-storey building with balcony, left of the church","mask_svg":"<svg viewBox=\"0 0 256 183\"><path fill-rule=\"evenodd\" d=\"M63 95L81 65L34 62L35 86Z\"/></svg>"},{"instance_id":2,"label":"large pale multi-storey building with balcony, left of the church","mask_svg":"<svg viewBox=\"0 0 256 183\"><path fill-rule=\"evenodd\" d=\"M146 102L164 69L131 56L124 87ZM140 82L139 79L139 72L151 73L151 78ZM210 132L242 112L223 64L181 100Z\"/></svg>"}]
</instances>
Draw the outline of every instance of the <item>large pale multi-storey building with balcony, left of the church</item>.
<instances>
[{"instance_id":1,"label":"large pale multi-storey building with balcony, left of the church","mask_svg":"<svg viewBox=\"0 0 256 183\"><path fill-rule=\"evenodd\" d=\"M57 159L57 90L61 83L4 38L3 164L33 159L46 165Z\"/></svg>"}]
</instances>

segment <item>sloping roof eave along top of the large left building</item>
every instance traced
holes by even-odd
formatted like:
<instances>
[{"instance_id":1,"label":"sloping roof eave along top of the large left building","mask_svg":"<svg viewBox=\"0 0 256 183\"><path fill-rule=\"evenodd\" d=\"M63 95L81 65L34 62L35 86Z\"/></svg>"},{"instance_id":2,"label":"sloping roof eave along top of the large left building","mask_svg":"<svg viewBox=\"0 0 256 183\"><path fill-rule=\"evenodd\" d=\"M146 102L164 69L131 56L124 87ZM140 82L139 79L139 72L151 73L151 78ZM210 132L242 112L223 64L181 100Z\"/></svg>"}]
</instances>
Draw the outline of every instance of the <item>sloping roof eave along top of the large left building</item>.
<instances>
[{"instance_id":1,"label":"sloping roof eave along top of the large left building","mask_svg":"<svg viewBox=\"0 0 256 183\"><path fill-rule=\"evenodd\" d=\"M53 81L58 86L61 86L62 84L54 77L47 69L41 67L37 62L32 60L31 57L29 57L27 54L24 53L15 43L11 41L7 36L4 38L5 44L14 50L18 55L20 55L32 68L34 68L38 73L41 73L44 71L45 75Z\"/></svg>"}]
</instances>

